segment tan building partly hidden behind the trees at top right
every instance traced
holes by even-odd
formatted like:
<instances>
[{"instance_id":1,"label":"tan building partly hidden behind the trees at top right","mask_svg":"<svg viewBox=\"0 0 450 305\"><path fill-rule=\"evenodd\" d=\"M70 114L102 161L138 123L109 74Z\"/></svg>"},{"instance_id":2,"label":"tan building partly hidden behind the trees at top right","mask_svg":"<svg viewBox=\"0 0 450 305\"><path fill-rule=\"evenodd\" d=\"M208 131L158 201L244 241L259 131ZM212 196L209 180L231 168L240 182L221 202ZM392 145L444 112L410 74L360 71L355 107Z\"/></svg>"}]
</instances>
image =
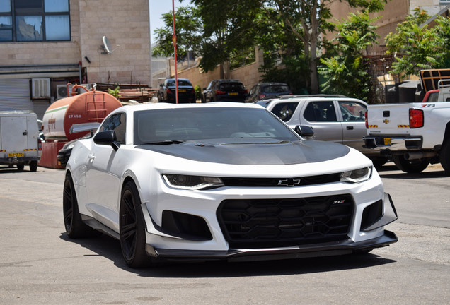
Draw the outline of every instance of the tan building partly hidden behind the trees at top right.
<instances>
[{"instance_id":1,"label":"tan building partly hidden behind the trees at top right","mask_svg":"<svg viewBox=\"0 0 450 305\"><path fill-rule=\"evenodd\" d=\"M380 35L379 44L374 44L373 47L368 49L366 55L383 55L386 51L386 43L384 38L389 32L395 32L398 23L405 20L405 17L414 13L415 8L420 8L427 11L429 16L434 16L441 12L447 6L450 6L450 0L390 0L386 3L384 11L379 13L373 13L372 18L380 17L376 20L375 25L378 26L376 32ZM347 19L347 15L350 12L356 12L354 8L350 8L345 1L333 1L330 4L330 10L333 13L333 17L339 21ZM328 40L334 37L334 33L328 33L326 38Z\"/></svg>"}]
</instances>

